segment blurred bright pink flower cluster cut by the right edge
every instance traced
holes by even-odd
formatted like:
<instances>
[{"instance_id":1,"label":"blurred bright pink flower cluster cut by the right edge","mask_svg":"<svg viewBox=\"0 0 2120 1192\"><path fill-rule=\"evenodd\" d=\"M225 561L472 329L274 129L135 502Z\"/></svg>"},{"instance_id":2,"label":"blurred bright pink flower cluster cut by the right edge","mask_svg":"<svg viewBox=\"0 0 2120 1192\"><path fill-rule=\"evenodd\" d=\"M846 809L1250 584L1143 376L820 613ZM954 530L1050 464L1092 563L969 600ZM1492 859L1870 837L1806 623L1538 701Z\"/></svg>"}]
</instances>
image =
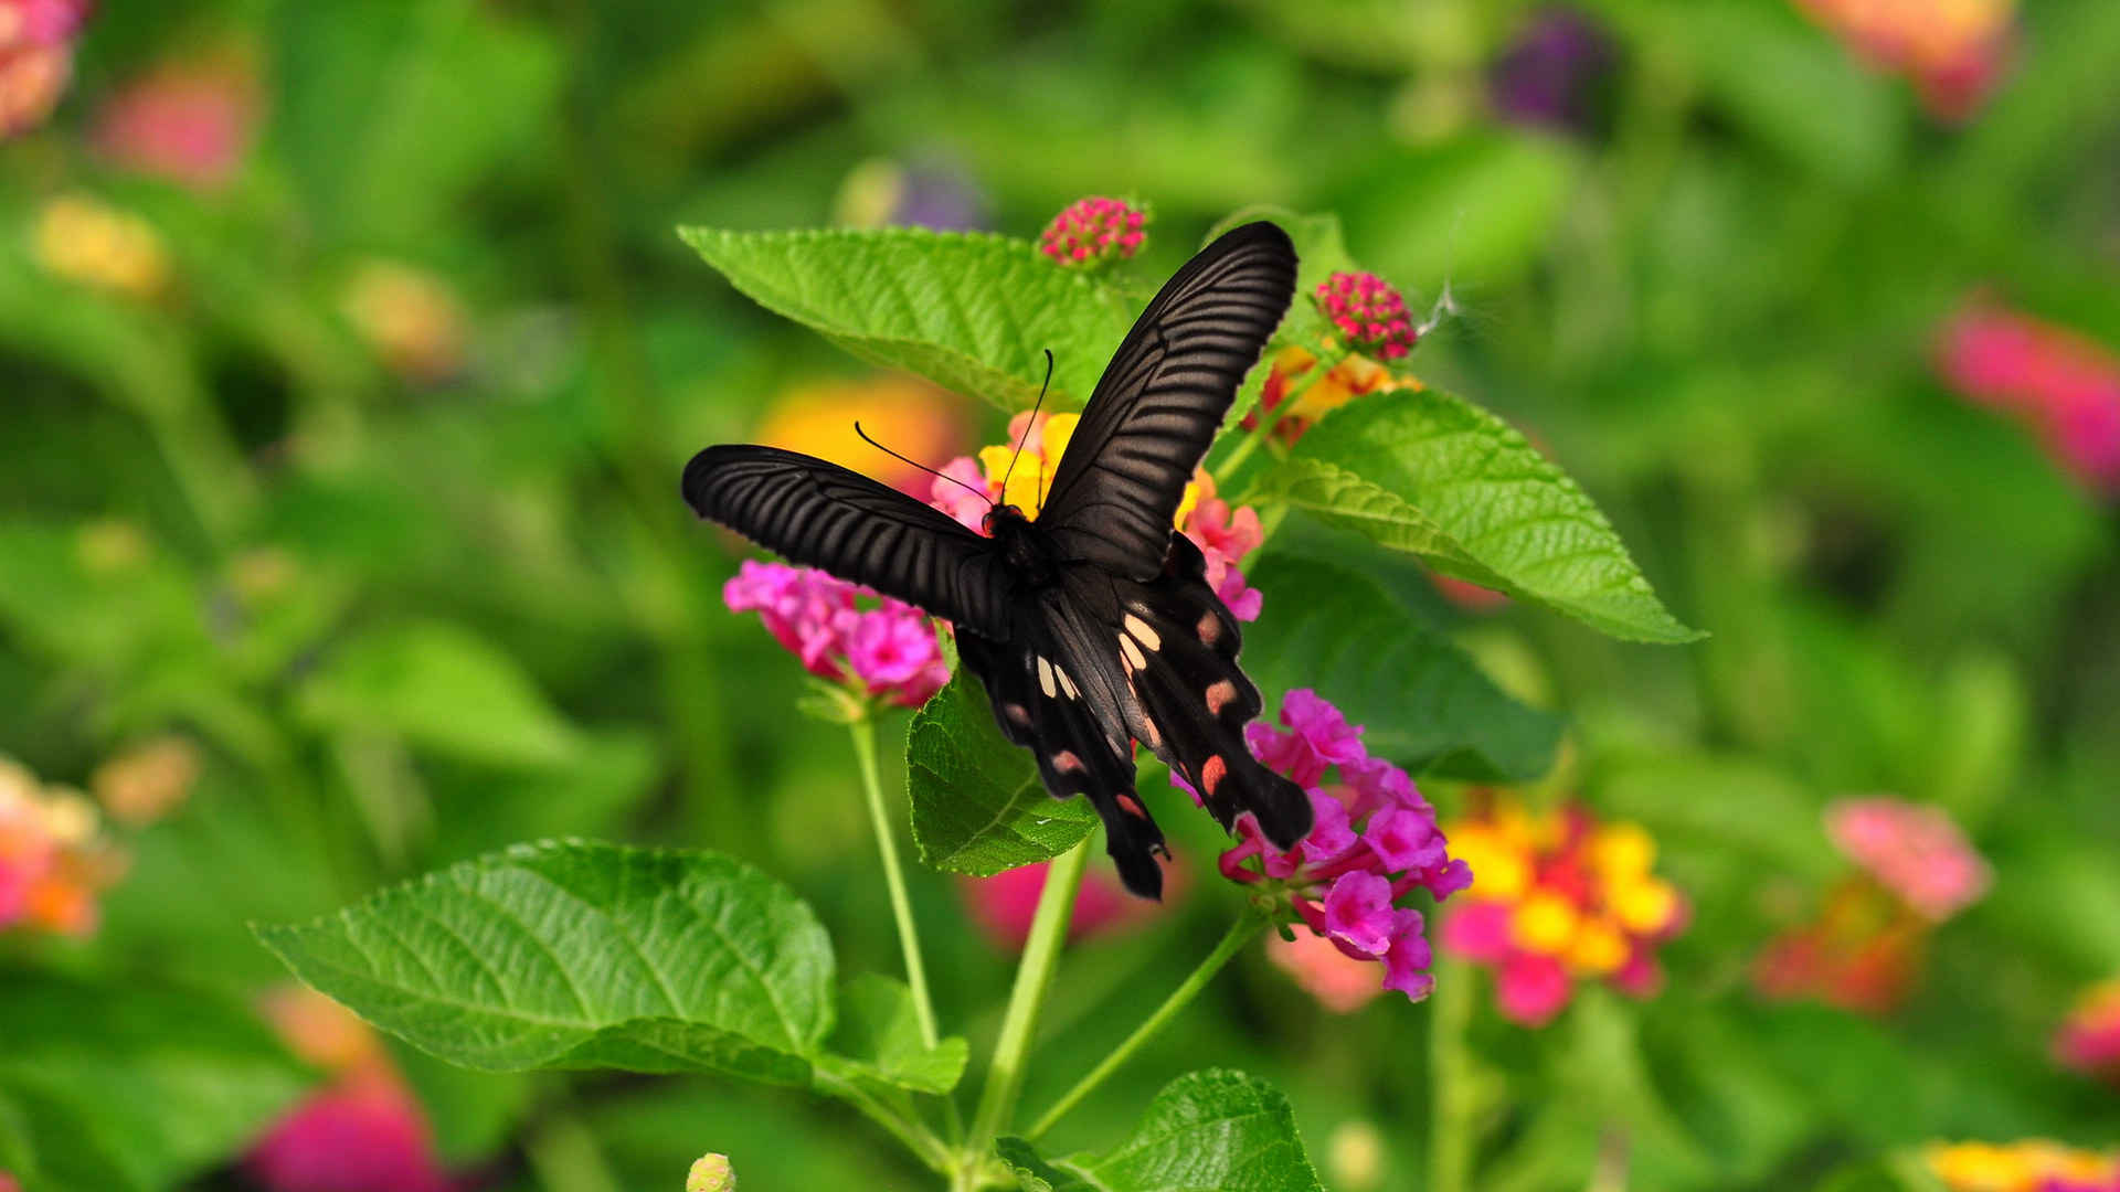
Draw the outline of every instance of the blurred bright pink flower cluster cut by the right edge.
<instances>
[{"instance_id":1,"label":"blurred bright pink flower cluster cut by the right edge","mask_svg":"<svg viewBox=\"0 0 2120 1192\"><path fill-rule=\"evenodd\" d=\"M2086 488L2120 494L2120 354L1974 301L1944 325L1936 367L1963 397L2027 424Z\"/></svg>"}]
</instances>

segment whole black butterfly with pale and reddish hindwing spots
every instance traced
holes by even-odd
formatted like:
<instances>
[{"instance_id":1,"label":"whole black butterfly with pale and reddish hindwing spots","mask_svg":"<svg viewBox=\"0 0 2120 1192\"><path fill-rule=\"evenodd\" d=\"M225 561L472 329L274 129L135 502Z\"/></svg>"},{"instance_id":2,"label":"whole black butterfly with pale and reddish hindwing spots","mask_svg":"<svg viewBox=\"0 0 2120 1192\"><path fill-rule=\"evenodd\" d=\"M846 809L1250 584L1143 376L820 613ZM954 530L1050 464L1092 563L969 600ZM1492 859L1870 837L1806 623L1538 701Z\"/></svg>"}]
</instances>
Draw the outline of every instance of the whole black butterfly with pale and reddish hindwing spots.
<instances>
[{"instance_id":1,"label":"whole black butterfly with pale and reddish hindwing spots","mask_svg":"<svg viewBox=\"0 0 2120 1192\"><path fill-rule=\"evenodd\" d=\"M1270 223L1187 261L1096 382L1037 522L996 505L979 537L837 464L755 445L693 456L685 501L795 562L954 621L1001 732L1030 747L1054 797L1090 795L1126 887L1158 897L1164 836L1134 793L1130 738L1183 774L1223 829L1249 810L1283 848L1310 831L1302 787L1244 747L1259 689L1236 666L1236 619L1200 547L1170 524L1293 291L1295 246Z\"/></svg>"}]
</instances>

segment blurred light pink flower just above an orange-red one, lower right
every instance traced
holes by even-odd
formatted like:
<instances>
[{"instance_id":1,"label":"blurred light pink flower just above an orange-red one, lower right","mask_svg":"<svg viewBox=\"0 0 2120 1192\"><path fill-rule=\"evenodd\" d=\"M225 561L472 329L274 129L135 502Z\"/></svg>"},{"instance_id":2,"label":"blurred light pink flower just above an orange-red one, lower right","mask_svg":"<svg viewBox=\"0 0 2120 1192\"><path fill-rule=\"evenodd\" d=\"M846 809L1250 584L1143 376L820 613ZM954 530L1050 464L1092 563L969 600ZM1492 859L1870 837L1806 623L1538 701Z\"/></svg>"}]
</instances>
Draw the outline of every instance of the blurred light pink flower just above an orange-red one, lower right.
<instances>
[{"instance_id":1,"label":"blurred light pink flower just above an orange-red one, lower right","mask_svg":"<svg viewBox=\"0 0 2120 1192\"><path fill-rule=\"evenodd\" d=\"M1825 834L1931 923L1950 918L1986 893L1986 861L1933 806L1891 797L1840 800L1825 808Z\"/></svg>"}]
</instances>

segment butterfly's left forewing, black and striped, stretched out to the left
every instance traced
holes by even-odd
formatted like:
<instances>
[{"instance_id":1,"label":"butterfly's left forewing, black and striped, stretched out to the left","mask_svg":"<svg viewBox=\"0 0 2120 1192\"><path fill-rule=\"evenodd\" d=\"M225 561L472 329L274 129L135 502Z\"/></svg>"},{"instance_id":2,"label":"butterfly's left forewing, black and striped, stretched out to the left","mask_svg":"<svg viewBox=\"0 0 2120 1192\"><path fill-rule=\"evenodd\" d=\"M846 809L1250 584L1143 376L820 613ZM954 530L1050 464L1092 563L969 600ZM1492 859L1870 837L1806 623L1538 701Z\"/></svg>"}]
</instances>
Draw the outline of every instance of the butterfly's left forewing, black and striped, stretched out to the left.
<instances>
[{"instance_id":1,"label":"butterfly's left forewing, black and striped, stretched out to the left","mask_svg":"<svg viewBox=\"0 0 2120 1192\"><path fill-rule=\"evenodd\" d=\"M780 448L721 445L685 464L685 501L793 562L1007 634L1009 577L992 539L861 473Z\"/></svg>"}]
</instances>

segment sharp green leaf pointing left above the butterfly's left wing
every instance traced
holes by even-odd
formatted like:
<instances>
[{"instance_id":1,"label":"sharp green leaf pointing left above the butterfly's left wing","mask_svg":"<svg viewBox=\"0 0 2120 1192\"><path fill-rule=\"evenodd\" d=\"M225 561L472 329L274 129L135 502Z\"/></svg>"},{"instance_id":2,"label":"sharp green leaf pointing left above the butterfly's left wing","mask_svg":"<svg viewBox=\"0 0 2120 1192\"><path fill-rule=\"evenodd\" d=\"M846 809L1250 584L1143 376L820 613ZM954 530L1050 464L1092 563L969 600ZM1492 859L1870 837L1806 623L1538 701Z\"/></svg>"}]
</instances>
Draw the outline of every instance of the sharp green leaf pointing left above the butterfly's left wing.
<instances>
[{"instance_id":1,"label":"sharp green leaf pointing left above the butterfly's left wing","mask_svg":"<svg viewBox=\"0 0 2120 1192\"><path fill-rule=\"evenodd\" d=\"M1037 399L1047 348L1047 403L1088 401L1138 314L1117 288L1003 235L916 227L685 227L678 235L765 310L865 361L916 371L1003 409Z\"/></svg>"}]
</instances>

